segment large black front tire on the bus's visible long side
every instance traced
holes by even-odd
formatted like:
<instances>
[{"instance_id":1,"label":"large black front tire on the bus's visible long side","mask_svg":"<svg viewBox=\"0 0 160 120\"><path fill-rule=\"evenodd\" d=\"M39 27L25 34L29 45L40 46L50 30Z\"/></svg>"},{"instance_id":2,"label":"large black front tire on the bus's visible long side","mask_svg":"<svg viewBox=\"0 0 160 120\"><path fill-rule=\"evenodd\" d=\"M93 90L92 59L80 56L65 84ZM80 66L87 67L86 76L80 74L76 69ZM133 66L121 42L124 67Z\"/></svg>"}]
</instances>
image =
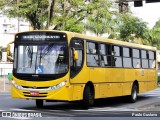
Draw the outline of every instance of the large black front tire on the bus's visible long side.
<instances>
[{"instance_id":1,"label":"large black front tire on the bus's visible long side","mask_svg":"<svg viewBox=\"0 0 160 120\"><path fill-rule=\"evenodd\" d=\"M94 92L91 90L90 86L87 85L83 92L82 107L83 109L88 109L94 104Z\"/></svg>"}]
</instances>

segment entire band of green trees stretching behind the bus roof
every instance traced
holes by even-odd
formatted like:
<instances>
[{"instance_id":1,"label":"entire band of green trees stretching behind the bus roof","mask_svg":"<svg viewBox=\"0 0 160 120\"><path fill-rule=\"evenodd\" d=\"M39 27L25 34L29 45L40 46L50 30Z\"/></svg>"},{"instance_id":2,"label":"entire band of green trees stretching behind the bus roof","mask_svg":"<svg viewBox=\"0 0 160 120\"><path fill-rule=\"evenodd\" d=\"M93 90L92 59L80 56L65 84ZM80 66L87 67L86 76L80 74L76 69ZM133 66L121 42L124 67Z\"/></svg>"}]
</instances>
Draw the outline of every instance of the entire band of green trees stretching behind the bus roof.
<instances>
[{"instance_id":1,"label":"entire band of green trees stretching behind the bus roof","mask_svg":"<svg viewBox=\"0 0 160 120\"><path fill-rule=\"evenodd\" d=\"M97 36L108 33L109 38L129 41L145 39L159 46L160 21L152 30L130 12L118 13L113 0L0 0L2 12L9 17L27 19L33 29L66 30Z\"/></svg>"}]
</instances>

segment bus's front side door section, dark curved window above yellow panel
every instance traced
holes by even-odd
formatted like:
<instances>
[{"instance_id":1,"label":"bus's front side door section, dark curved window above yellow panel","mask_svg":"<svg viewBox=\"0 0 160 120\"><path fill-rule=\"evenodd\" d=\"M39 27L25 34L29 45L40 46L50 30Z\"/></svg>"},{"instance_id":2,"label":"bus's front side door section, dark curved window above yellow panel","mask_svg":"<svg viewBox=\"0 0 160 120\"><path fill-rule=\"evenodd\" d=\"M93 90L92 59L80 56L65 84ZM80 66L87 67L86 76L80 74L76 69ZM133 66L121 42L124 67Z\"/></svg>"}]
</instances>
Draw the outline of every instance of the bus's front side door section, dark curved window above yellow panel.
<instances>
[{"instance_id":1,"label":"bus's front side door section, dark curved window above yellow panel","mask_svg":"<svg viewBox=\"0 0 160 120\"><path fill-rule=\"evenodd\" d=\"M73 38L70 44L70 83L73 85L73 100L83 98L83 84L88 80L84 67L84 41Z\"/></svg>"}]
</instances>

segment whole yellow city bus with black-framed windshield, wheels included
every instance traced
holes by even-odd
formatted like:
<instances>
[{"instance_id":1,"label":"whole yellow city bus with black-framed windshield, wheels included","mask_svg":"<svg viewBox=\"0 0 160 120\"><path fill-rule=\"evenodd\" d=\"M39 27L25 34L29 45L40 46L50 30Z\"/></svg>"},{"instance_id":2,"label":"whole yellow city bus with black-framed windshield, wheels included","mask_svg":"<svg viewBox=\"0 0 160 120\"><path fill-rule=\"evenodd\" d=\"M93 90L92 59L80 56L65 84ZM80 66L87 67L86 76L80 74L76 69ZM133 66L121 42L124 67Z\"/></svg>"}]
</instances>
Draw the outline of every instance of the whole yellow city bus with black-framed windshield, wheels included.
<instances>
[{"instance_id":1,"label":"whole yellow city bus with black-framed windshield, wheels included","mask_svg":"<svg viewBox=\"0 0 160 120\"><path fill-rule=\"evenodd\" d=\"M128 96L157 88L155 47L66 31L29 31L15 35L12 97L80 101Z\"/></svg>"}]
</instances>

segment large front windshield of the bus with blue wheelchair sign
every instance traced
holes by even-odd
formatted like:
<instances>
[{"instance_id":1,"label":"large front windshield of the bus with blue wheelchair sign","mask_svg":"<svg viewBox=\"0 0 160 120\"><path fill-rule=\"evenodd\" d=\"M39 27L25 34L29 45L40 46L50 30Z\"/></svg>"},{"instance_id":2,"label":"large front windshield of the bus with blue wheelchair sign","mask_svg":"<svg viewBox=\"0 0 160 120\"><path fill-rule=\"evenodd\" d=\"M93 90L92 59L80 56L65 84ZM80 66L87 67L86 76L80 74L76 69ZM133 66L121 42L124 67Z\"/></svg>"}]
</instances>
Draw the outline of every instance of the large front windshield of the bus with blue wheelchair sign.
<instances>
[{"instance_id":1,"label":"large front windshield of the bus with blue wheelchair sign","mask_svg":"<svg viewBox=\"0 0 160 120\"><path fill-rule=\"evenodd\" d=\"M43 45L18 45L16 73L61 74L68 71L66 45L50 43Z\"/></svg>"}]
</instances>

